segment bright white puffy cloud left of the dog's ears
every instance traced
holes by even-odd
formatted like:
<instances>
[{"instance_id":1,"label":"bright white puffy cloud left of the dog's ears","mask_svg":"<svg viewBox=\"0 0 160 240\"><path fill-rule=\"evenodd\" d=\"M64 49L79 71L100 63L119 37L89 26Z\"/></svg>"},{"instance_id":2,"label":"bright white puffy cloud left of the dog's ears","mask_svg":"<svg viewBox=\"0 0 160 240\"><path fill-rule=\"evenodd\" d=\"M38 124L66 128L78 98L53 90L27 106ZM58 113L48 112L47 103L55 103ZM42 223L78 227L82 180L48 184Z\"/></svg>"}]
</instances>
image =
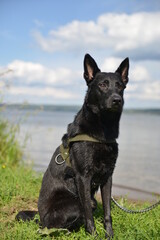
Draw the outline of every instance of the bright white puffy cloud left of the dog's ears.
<instances>
[{"instance_id":1,"label":"bright white puffy cloud left of the dog's ears","mask_svg":"<svg viewBox=\"0 0 160 240\"><path fill-rule=\"evenodd\" d=\"M6 75L6 79L20 81L21 84L41 83L48 85L68 85L72 82L73 76L80 77L78 72L69 68L51 69L40 63L25 62L15 60L8 64L7 68L12 69L12 73ZM22 82L24 80L24 82Z\"/></svg>"}]
</instances>

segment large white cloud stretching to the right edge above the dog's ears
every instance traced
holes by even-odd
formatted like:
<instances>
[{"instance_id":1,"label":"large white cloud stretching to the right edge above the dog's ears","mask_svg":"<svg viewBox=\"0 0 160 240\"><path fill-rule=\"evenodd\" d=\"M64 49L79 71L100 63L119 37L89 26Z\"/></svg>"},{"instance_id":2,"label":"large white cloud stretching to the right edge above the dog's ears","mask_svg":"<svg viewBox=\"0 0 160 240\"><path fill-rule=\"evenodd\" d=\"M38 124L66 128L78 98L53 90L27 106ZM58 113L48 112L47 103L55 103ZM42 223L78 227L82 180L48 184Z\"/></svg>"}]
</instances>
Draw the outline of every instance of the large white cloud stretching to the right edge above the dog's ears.
<instances>
[{"instance_id":1,"label":"large white cloud stretching to the right edge above the dog's ears","mask_svg":"<svg viewBox=\"0 0 160 240\"><path fill-rule=\"evenodd\" d=\"M108 13L99 16L97 21L72 21L51 30L46 37L34 32L34 37L39 46L48 52L109 48L114 53L140 49L143 50L141 54L147 51L157 55L160 54L159 19L160 12Z\"/></svg>"}]
</instances>

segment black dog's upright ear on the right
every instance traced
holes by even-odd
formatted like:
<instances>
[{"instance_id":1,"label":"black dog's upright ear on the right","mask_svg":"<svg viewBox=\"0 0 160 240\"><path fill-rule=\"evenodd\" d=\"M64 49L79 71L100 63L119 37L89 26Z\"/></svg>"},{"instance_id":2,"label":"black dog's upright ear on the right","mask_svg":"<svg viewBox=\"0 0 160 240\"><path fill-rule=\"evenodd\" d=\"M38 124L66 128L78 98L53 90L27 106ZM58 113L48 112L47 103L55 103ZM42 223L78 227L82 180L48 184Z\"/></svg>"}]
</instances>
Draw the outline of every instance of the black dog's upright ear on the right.
<instances>
[{"instance_id":1,"label":"black dog's upright ear on the right","mask_svg":"<svg viewBox=\"0 0 160 240\"><path fill-rule=\"evenodd\" d=\"M128 71L129 71L129 58L125 58L123 62L121 62L120 66L116 70L117 73L121 75L122 81L125 85L128 83Z\"/></svg>"}]
</instances>

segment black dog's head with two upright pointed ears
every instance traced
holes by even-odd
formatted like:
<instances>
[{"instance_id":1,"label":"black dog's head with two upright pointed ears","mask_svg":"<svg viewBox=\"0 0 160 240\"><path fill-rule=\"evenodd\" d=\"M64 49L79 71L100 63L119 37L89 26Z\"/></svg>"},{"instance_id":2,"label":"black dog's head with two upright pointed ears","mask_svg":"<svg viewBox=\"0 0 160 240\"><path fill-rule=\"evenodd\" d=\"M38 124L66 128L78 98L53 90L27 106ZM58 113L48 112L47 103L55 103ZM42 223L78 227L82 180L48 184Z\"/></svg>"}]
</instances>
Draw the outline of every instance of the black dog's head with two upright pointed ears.
<instances>
[{"instance_id":1,"label":"black dog's head with two upright pointed ears","mask_svg":"<svg viewBox=\"0 0 160 240\"><path fill-rule=\"evenodd\" d=\"M128 83L129 59L126 58L114 73L101 72L95 60L86 54L84 78L88 85L87 106L94 112L121 112L123 92Z\"/></svg>"}]
</instances>

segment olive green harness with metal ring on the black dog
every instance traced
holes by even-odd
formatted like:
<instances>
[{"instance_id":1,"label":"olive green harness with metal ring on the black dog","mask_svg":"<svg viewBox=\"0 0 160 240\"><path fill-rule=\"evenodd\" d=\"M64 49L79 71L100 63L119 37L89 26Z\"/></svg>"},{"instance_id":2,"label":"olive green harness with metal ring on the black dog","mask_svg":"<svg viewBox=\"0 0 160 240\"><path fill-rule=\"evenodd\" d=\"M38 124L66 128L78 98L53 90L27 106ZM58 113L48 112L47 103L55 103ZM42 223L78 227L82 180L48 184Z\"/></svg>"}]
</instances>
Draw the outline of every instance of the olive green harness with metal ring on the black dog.
<instances>
[{"instance_id":1,"label":"olive green harness with metal ring on the black dog","mask_svg":"<svg viewBox=\"0 0 160 240\"><path fill-rule=\"evenodd\" d=\"M67 144L66 148L64 148L63 144L60 145L60 154L58 154L55 158L56 163L61 165L64 162L66 162L67 165L71 167L71 162L70 162L70 158L69 158L70 143L72 143L72 142L86 142L86 141L87 142L103 143L103 144L115 143L116 142L115 139L100 141L96 138L90 137L87 134L78 134L75 137L72 137L72 138L68 139L68 144ZM62 157L63 161L61 161L61 162L58 161L59 156Z\"/></svg>"}]
</instances>

